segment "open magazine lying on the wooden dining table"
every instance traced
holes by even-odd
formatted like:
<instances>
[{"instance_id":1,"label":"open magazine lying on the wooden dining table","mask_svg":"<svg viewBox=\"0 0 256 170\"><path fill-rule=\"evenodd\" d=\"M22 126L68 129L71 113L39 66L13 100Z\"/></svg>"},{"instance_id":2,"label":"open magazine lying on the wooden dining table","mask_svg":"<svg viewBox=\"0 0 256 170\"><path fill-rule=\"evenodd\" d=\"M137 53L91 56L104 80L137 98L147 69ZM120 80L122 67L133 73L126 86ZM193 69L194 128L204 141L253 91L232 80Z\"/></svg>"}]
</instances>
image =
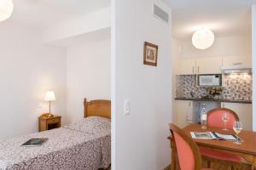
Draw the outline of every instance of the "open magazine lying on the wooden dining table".
<instances>
[{"instance_id":1,"label":"open magazine lying on the wooden dining table","mask_svg":"<svg viewBox=\"0 0 256 170\"><path fill-rule=\"evenodd\" d=\"M205 133L191 132L190 134L193 139L223 139L223 140L231 140L231 141L236 140L236 136L234 134L221 134L221 133L215 133L215 132L205 132Z\"/></svg>"}]
</instances>

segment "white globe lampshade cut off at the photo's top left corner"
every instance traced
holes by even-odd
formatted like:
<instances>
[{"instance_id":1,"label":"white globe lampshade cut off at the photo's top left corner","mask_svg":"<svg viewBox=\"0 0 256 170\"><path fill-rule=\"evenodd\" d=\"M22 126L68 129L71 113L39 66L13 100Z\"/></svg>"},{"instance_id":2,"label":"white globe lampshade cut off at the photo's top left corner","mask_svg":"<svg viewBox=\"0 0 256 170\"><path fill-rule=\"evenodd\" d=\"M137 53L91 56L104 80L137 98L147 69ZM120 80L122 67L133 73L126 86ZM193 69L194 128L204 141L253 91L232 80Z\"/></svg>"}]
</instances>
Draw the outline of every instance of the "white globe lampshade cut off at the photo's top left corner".
<instances>
[{"instance_id":1,"label":"white globe lampshade cut off at the photo's top left corner","mask_svg":"<svg viewBox=\"0 0 256 170\"><path fill-rule=\"evenodd\" d=\"M0 21L9 19L13 10L14 3L12 0L0 0Z\"/></svg>"}]
</instances>

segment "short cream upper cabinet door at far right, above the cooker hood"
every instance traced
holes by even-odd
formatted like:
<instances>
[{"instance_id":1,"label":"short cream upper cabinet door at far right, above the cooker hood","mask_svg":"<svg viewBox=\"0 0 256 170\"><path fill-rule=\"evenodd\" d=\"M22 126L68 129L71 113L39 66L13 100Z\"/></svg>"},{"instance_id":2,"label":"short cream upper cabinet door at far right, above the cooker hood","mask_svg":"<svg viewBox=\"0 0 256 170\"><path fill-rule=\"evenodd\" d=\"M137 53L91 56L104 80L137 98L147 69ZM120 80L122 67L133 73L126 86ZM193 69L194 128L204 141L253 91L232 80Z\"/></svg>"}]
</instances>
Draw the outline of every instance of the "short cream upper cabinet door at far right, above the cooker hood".
<instances>
[{"instance_id":1,"label":"short cream upper cabinet door at far right, above the cooker hood","mask_svg":"<svg viewBox=\"0 0 256 170\"><path fill-rule=\"evenodd\" d=\"M252 58L246 57L246 56L224 56L223 58L224 67L239 66L239 65L252 67Z\"/></svg>"}]
</instances>

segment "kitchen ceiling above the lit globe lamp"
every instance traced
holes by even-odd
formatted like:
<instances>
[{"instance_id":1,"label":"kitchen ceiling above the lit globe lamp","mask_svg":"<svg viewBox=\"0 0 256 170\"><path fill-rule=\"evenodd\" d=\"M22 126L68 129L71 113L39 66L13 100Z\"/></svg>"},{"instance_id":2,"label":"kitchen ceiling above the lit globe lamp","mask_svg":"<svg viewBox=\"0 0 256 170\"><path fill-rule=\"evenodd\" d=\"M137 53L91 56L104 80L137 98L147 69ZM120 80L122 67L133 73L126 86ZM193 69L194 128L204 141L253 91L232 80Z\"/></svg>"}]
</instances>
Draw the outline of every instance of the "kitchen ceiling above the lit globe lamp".
<instances>
[{"instance_id":1,"label":"kitchen ceiling above the lit globe lamp","mask_svg":"<svg viewBox=\"0 0 256 170\"><path fill-rule=\"evenodd\" d=\"M256 0L163 0L172 8L173 37L187 40L201 27L216 37L251 34Z\"/></svg>"}]
</instances>

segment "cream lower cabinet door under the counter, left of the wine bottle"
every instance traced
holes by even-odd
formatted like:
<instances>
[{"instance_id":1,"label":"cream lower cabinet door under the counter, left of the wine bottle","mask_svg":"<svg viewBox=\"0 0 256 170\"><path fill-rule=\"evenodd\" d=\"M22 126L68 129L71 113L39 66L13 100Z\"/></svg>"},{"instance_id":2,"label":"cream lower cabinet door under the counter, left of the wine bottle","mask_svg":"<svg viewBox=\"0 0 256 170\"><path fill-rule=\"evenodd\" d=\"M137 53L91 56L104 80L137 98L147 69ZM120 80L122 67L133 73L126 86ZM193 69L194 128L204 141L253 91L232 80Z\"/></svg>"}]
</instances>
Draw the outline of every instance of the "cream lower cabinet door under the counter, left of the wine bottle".
<instances>
[{"instance_id":1,"label":"cream lower cabinet door under the counter, left of the wine bottle","mask_svg":"<svg viewBox=\"0 0 256 170\"><path fill-rule=\"evenodd\" d=\"M176 101L176 124L178 127L185 127L189 125L187 121L188 112L193 111L193 101L177 100Z\"/></svg>"}]
</instances>

